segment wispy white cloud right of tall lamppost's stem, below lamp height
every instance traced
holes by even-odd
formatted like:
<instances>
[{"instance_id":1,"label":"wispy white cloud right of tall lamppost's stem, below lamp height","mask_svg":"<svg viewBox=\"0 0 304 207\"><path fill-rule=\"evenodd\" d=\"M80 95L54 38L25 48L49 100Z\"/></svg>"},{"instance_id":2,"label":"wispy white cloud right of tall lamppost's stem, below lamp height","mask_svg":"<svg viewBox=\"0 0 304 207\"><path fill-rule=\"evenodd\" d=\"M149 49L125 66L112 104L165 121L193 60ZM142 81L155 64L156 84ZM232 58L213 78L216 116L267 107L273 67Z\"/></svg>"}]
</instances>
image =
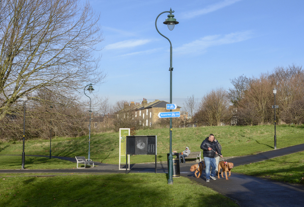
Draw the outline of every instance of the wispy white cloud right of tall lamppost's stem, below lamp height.
<instances>
[{"instance_id":1,"label":"wispy white cloud right of tall lamppost's stem, below lamp height","mask_svg":"<svg viewBox=\"0 0 304 207\"><path fill-rule=\"evenodd\" d=\"M202 53L206 51L208 47L237 43L252 38L251 31L235 32L226 35L210 35L202 37L199 40L187 43L174 49L175 53L188 54L188 53Z\"/></svg>"}]
</instances>

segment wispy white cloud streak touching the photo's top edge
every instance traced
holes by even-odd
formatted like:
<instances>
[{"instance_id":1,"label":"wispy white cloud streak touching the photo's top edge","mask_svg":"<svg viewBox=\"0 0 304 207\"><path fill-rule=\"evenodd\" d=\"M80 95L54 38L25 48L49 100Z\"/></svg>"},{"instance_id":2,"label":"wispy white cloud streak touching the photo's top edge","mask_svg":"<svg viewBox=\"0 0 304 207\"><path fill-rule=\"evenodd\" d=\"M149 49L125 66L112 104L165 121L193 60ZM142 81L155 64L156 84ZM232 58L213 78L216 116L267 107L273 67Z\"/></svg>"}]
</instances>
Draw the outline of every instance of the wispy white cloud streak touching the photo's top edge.
<instances>
[{"instance_id":1,"label":"wispy white cloud streak touching the photo's top edge","mask_svg":"<svg viewBox=\"0 0 304 207\"><path fill-rule=\"evenodd\" d=\"M241 1L241 0L225 0L223 2L218 2L216 4L209 5L204 9L199 9L199 10L184 13L184 14L181 15L181 18L191 19L195 16L199 16L199 15L203 15L203 14L208 14L210 12L214 12L216 10L222 9L226 6L229 6L229 5L234 4L235 2L239 2L239 1Z\"/></svg>"}]
</instances>

